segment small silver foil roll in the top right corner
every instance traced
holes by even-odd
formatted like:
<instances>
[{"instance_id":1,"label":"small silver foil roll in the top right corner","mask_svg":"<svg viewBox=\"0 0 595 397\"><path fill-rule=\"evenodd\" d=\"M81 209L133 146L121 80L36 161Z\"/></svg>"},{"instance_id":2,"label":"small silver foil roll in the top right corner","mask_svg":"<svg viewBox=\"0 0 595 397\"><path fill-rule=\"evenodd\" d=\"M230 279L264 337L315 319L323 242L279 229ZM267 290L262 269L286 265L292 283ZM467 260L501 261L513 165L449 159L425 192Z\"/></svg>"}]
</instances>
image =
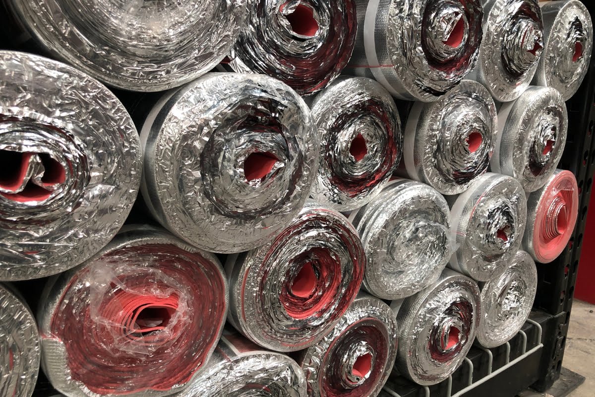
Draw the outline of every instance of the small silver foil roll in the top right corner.
<instances>
[{"instance_id":1,"label":"small silver foil roll in the top right corner","mask_svg":"<svg viewBox=\"0 0 595 397\"><path fill-rule=\"evenodd\" d=\"M578 0L541 4L545 45L534 84L557 89L568 101L587 75L593 51L593 21Z\"/></svg>"}]
</instances>

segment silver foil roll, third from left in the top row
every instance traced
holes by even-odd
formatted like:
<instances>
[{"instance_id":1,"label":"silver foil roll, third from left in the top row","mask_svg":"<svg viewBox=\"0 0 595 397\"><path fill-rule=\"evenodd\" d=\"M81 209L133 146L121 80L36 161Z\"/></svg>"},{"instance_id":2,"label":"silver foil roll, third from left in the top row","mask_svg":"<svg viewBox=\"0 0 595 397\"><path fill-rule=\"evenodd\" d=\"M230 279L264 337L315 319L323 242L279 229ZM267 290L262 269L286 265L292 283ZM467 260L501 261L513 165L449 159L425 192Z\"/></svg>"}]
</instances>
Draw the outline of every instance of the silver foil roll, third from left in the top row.
<instances>
[{"instance_id":1,"label":"silver foil roll, third from left in the top row","mask_svg":"<svg viewBox=\"0 0 595 397\"><path fill-rule=\"evenodd\" d=\"M475 67L481 0L355 0L358 35L349 68L396 98L437 101Z\"/></svg>"}]
</instances>

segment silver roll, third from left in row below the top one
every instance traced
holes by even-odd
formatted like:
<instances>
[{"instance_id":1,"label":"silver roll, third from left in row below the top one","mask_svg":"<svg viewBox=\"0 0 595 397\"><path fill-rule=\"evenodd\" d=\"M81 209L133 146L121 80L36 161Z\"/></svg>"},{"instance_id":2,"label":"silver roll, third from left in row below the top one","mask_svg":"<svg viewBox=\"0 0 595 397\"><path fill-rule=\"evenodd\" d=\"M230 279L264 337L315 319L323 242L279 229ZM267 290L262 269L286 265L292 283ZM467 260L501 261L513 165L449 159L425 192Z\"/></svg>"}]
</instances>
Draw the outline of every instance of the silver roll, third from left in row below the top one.
<instances>
[{"instance_id":1,"label":"silver roll, third from left in row below the top one","mask_svg":"<svg viewBox=\"0 0 595 397\"><path fill-rule=\"evenodd\" d=\"M316 96L311 110L321 151L312 197L338 211L368 204L389 182L403 152L390 93L371 79L339 79Z\"/></svg>"}]
</instances>

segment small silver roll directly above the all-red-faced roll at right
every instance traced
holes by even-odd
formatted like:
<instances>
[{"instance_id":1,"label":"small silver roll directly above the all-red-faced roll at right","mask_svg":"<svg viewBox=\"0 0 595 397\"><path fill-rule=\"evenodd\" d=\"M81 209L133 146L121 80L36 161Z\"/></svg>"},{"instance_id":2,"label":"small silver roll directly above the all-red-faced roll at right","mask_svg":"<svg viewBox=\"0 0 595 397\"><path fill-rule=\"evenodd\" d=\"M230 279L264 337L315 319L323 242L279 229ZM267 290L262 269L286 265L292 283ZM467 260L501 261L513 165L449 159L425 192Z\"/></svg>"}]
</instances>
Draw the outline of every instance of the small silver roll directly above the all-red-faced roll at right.
<instances>
[{"instance_id":1,"label":"small silver roll directly above the all-red-faced roll at right","mask_svg":"<svg viewBox=\"0 0 595 397\"><path fill-rule=\"evenodd\" d=\"M502 105L491 171L510 175L526 192L552 176L566 145L568 113L558 90L529 87L515 102Z\"/></svg>"}]
</instances>

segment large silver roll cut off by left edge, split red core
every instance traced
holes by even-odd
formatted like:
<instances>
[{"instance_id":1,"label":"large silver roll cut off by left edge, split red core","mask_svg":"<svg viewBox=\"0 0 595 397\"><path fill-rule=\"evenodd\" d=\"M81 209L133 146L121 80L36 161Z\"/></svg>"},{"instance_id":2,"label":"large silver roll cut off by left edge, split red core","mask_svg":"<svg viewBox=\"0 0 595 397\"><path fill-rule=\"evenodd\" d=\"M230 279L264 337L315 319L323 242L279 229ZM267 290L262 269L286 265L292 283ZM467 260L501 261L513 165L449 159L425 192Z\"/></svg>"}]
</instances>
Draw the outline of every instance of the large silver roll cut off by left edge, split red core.
<instances>
[{"instance_id":1,"label":"large silver roll cut off by left edge, split red core","mask_svg":"<svg viewBox=\"0 0 595 397\"><path fill-rule=\"evenodd\" d=\"M136 199L140 142L101 83L0 51L0 280L67 270L117 233Z\"/></svg>"}]
</instances>

